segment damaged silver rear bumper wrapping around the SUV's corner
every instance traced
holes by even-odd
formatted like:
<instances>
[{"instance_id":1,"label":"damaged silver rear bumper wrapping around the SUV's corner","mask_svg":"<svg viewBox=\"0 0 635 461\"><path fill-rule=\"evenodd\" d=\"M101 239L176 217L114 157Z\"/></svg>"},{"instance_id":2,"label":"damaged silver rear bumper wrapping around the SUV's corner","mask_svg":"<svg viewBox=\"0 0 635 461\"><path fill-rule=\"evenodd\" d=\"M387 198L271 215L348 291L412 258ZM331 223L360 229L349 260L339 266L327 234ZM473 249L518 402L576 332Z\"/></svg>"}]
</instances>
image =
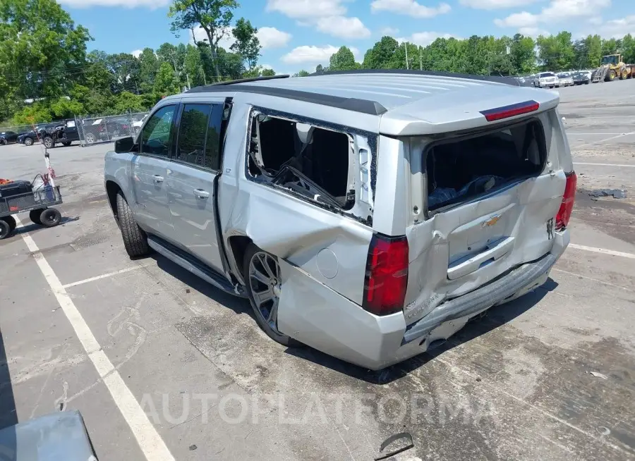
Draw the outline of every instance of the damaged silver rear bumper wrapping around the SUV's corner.
<instances>
[{"instance_id":1,"label":"damaged silver rear bumper wrapping around the SUV's corner","mask_svg":"<svg viewBox=\"0 0 635 461\"><path fill-rule=\"evenodd\" d=\"M298 340L346 362L373 370L382 369L425 352L430 343L449 338L463 328L469 319L490 307L509 302L538 288L547 281L550 269L567 245L569 230L556 232L552 250L548 254L516 267L497 281L438 305L423 319L407 327L402 312L375 316L323 287L328 292L320 293L325 295L320 304L322 309L330 313L325 316L325 312L322 312L320 316L313 316L303 309L300 314L302 321L293 319L290 324L294 324L294 328L285 328L286 334L295 337L300 333ZM312 291L315 290L312 288ZM294 312L293 316L298 316L298 313ZM291 329L295 331L289 331ZM311 334L307 335L309 331Z\"/></svg>"}]
</instances>

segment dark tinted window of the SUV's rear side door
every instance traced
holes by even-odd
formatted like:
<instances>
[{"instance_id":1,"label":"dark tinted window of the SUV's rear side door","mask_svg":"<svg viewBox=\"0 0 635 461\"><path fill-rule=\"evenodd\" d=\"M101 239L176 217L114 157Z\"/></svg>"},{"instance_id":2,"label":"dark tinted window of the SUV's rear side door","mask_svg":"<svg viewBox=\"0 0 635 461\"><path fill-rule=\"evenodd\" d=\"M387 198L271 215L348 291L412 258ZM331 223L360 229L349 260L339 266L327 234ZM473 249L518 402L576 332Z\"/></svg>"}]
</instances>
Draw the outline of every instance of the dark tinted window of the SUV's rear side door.
<instances>
[{"instance_id":1,"label":"dark tinted window of the SUV's rear side door","mask_svg":"<svg viewBox=\"0 0 635 461\"><path fill-rule=\"evenodd\" d=\"M221 104L186 104L179 124L175 159L217 170L219 168Z\"/></svg>"}]
</instances>

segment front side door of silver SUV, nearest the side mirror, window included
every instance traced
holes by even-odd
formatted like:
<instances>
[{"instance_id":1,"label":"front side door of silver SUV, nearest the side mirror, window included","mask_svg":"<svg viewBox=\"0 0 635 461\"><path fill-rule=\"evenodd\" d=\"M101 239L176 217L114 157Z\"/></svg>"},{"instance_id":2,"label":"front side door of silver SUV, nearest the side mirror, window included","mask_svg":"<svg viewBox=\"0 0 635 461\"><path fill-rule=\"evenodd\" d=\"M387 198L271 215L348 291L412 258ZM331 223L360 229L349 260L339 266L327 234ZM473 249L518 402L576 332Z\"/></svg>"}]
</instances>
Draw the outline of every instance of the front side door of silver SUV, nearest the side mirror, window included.
<instances>
[{"instance_id":1,"label":"front side door of silver SUV, nearest the side mirror, window included","mask_svg":"<svg viewBox=\"0 0 635 461\"><path fill-rule=\"evenodd\" d=\"M139 154L133 157L132 164L135 219L148 232L166 239L174 235L165 181L176 107L162 106L152 114L143 127Z\"/></svg>"}]
</instances>

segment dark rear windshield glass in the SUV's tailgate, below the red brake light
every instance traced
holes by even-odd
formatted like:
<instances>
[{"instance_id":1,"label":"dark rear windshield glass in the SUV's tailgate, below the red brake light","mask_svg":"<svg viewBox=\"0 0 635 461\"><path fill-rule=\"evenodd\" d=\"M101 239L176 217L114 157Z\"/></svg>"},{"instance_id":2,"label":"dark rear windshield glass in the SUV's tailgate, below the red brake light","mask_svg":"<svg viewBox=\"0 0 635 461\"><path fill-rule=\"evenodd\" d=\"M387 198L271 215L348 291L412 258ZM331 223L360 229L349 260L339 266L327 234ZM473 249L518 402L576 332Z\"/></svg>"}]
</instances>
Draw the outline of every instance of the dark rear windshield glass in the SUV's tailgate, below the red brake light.
<instances>
[{"instance_id":1,"label":"dark rear windshield glass in the SUV's tailgate, below the red brake light","mask_svg":"<svg viewBox=\"0 0 635 461\"><path fill-rule=\"evenodd\" d=\"M433 145L424 159L428 210L538 176L546 156L543 126L538 121Z\"/></svg>"}]
</instances>

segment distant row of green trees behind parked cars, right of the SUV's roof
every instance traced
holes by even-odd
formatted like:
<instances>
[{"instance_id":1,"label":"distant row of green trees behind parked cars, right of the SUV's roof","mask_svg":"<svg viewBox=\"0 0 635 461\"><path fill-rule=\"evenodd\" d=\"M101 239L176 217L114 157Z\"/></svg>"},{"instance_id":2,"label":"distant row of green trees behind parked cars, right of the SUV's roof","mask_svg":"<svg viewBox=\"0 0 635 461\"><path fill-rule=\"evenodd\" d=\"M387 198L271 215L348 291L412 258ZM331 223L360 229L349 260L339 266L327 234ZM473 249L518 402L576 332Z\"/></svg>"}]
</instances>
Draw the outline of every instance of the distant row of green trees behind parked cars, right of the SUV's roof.
<instances>
[{"instance_id":1,"label":"distant row of green trees behind parked cars, right of the SUV's roof","mask_svg":"<svg viewBox=\"0 0 635 461\"><path fill-rule=\"evenodd\" d=\"M635 39L624 35L622 39L603 39L588 35L573 40L570 32L543 36L537 39L516 34L514 37L492 36L468 39L437 38L426 47L411 42L397 42L393 37L382 37L368 49L361 63L356 62L348 47L332 54L327 67L319 64L316 73L326 70L356 69L420 69L472 75L529 75L540 70L597 68L602 56L624 54L624 61L635 63ZM406 57L407 56L407 57ZM295 74L310 75L307 70Z\"/></svg>"}]
</instances>

